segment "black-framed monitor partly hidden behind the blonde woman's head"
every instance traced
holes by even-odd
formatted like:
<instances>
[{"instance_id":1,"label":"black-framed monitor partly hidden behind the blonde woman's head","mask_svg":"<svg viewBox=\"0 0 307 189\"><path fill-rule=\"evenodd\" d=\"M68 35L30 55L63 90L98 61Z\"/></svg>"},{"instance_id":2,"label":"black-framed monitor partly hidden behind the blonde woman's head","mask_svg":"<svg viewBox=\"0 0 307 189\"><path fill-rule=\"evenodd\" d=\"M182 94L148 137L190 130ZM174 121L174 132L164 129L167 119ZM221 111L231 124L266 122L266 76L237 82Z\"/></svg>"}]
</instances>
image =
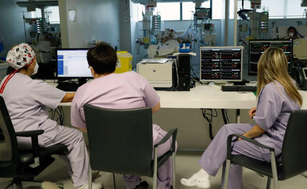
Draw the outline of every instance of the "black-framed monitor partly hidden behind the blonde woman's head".
<instances>
[{"instance_id":1,"label":"black-framed monitor partly hidden behind the blonde woman's head","mask_svg":"<svg viewBox=\"0 0 307 189\"><path fill-rule=\"evenodd\" d=\"M257 75L258 61L268 47L280 47L288 59L288 73L292 72L293 41L292 40L249 40L248 75Z\"/></svg>"}]
</instances>

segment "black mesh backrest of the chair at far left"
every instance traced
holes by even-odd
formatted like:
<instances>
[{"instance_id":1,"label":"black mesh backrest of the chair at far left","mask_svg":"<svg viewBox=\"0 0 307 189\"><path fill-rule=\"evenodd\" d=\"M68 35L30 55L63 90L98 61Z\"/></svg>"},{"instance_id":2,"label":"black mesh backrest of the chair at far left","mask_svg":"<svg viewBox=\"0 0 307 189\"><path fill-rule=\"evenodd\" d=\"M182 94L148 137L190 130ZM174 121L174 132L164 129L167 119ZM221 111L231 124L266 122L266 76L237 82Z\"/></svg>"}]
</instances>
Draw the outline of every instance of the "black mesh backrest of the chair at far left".
<instances>
[{"instance_id":1,"label":"black mesh backrest of the chair at far left","mask_svg":"<svg viewBox=\"0 0 307 189\"><path fill-rule=\"evenodd\" d=\"M0 176L16 170L17 158L18 144L15 130L4 99L0 96Z\"/></svg>"}]
</instances>

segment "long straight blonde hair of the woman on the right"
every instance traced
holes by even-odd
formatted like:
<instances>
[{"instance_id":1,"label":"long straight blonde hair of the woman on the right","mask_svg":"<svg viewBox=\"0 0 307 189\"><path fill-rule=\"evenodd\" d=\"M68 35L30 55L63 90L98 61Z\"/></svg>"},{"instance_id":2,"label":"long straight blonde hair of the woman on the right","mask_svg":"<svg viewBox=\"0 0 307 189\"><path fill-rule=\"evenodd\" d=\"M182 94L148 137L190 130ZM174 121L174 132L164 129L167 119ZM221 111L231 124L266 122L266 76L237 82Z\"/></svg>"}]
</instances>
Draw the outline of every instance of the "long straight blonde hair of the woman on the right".
<instances>
[{"instance_id":1,"label":"long straight blonde hair of the woman on the right","mask_svg":"<svg viewBox=\"0 0 307 189\"><path fill-rule=\"evenodd\" d=\"M284 87L290 99L302 105L303 98L288 74L288 60L281 48L269 47L264 51L258 62L257 80L257 97L264 85L277 81Z\"/></svg>"}]
</instances>

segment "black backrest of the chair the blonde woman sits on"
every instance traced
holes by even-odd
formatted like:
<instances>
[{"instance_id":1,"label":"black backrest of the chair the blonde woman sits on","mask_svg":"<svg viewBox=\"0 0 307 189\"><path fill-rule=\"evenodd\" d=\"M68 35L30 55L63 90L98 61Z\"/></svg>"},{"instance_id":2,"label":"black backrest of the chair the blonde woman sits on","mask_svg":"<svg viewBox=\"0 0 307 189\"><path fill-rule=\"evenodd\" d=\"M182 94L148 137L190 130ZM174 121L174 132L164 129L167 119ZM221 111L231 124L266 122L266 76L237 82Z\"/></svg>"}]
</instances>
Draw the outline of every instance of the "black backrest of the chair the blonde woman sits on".
<instances>
[{"instance_id":1,"label":"black backrest of the chair the blonde woman sits on","mask_svg":"<svg viewBox=\"0 0 307 189\"><path fill-rule=\"evenodd\" d=\"M307 170L307 110L291 112L282 145L279 180L286 180Z\"/></svg>"}]
</instances>

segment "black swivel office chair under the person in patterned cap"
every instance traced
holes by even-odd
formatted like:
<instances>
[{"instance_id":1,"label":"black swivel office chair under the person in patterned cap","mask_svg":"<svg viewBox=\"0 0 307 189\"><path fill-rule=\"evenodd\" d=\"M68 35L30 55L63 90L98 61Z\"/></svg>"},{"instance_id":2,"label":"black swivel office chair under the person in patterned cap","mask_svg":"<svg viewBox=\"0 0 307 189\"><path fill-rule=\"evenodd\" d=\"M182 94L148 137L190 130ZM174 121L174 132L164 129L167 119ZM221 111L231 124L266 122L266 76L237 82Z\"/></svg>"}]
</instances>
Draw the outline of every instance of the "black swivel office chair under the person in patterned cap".
<instances>
[{"instance_id":1,"label":"black swivel office chair under the person in patterned cap","mask_svg":"<svg viewBox=\"0 0 307 189\"><path fill-rule=\"evenodd\" d=\"M47 168L55 159L53 154L66 155L68 149L64 144L41 148L38 145L38 135L44 130L29 130L15 132L3 97L0 96L0 178L13 178L7 186L22 189L21 182L31 182L37 185L33 178ZM31 137L32 149L18 150L18 137ZM4 185L2 183L0 185Z\"/></svg>"}]
</instances>

